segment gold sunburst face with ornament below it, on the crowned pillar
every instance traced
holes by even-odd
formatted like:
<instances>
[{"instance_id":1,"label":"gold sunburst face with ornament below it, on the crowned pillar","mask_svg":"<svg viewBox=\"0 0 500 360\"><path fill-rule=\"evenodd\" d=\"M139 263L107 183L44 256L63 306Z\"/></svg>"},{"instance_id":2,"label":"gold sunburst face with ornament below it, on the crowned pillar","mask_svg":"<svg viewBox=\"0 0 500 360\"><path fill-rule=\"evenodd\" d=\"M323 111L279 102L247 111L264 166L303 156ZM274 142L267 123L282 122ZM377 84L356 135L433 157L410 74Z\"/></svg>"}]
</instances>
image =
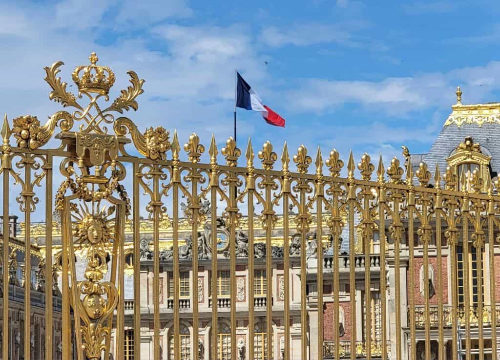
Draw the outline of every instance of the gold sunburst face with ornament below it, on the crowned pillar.
<instances>
[{"instance_id":1,"label":"gold sunburst face with ornament below it, on the crowned pillar","mask_svg":"<svg viewBox=\"0 0 500 360\"><path fill-rule=\"evenodd\" d=\"M107 272L107 245L113 242L114 237L114 218L110 216L114 210L114 206L106 208L93 201L91 208L86 203L79 209L76 206L72 208L74 243L87 258L85 278L89 280L101 280Z\"/></svg>"}]
</instances>

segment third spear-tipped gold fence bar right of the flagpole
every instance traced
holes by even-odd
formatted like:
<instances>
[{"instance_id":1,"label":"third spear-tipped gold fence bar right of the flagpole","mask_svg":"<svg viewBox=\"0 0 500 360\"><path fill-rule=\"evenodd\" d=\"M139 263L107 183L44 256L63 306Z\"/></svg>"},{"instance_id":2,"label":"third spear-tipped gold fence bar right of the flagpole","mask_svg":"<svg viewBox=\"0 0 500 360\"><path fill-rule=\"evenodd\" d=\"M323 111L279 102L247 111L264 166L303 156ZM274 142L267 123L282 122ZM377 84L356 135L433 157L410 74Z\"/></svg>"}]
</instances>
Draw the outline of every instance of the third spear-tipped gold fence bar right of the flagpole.
<instances>
[{"instance_id":1,"label":"third spear-tipped gold fence bar right of the flagpole","mask_svg":"<svg viewBox=\"0 0 500 360\"><path fill-rule=\"evenodd\" d=\"M317 357L323 358L323 159L319 146L316 155L316 255L317 255ZM338 303L336 303L338 305Z\"/></svg>"}]
</instances>

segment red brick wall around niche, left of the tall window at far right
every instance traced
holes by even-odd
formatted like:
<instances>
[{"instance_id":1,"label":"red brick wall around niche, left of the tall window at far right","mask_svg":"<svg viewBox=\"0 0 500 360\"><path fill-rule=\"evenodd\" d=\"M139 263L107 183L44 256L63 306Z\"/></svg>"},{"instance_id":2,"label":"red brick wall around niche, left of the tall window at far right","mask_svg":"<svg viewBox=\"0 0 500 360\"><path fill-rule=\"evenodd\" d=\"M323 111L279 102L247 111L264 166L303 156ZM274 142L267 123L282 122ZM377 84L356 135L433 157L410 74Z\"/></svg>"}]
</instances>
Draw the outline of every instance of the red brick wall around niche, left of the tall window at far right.
<instances>
[{"instance_id":1,"label":"red brick wall around niche, left of the tall window at far right","mask_svg":"<svg viewBox=\"0 0 500 360\"><path fill-rule=\"evenodd\" d=\"M498 258L499 265L500 265L500 257ZM446 256L441 257L441 271L442 271L442 279L439 279L437 277L437 257L429 257L429 264L432 265L434 269L434 291L435 294L429 299L430 304L437 304L437 298L438 298L438 293L439 291L442 292L442 302L443 304L446 304L448 302L448 267L447 267L447 258ZM413 276L414 276L414 281L415 281L415 287L413 289L410 288L410 276L411 273L409 269L406 271L406 276L407 276L407 295L408 295L408 301L409 301L409 296L410 296L410 291L413 291L414 294L414 299L415 299L415 305L423 305L425 303L425 300L422 295L420 295L420 267L423 265L423 258L422 257L415 257L413 259ZM422 273L422 275L424 275ZM440 289L441 287L441 289Z\"/></svg>"}]
</instances>

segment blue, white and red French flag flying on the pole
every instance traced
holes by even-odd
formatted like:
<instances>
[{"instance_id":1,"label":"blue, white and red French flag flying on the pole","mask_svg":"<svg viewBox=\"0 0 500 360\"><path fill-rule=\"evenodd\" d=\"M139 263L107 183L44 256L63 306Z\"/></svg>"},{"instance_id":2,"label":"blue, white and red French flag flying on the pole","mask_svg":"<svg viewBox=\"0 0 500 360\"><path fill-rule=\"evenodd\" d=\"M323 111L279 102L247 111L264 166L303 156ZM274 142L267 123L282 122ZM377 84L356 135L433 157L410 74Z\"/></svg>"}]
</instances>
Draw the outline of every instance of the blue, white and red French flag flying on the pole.
<instances>
[{"instance_id":1,"label":"blue, white and red French flag flying on the pole","mask_svg":"<svg viewBox=\"0 0 500 360\"><path fill-rule=\"evenodd\" d=\"M264 120L274 126L284 127L284 118L264 105L262 100L248 83L236 71L236 107L247 110L260 111Z\"/></svg>"}]
</instances>

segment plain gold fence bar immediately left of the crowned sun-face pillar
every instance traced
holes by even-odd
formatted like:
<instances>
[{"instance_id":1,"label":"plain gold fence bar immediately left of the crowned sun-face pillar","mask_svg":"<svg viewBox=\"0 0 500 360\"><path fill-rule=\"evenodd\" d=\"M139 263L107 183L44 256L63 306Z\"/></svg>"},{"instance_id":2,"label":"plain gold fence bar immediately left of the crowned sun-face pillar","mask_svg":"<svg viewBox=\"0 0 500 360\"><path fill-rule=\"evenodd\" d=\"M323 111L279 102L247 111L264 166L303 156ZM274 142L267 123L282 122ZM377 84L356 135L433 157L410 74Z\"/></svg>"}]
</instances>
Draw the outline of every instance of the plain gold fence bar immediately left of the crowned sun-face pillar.
<instances>
[{"instance_id":1,"label":"plain gold fence bar immediately left of the crowned sun-face pillar","mask_svg":"<svg viewBox=\"0 0 500 360\"><path fill-rule=\"evenodd\" d=\"M46 156L45 174L45 359L52 355L52 156Z\"/></svg>"}]
</instances>

